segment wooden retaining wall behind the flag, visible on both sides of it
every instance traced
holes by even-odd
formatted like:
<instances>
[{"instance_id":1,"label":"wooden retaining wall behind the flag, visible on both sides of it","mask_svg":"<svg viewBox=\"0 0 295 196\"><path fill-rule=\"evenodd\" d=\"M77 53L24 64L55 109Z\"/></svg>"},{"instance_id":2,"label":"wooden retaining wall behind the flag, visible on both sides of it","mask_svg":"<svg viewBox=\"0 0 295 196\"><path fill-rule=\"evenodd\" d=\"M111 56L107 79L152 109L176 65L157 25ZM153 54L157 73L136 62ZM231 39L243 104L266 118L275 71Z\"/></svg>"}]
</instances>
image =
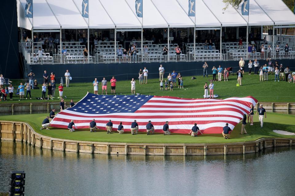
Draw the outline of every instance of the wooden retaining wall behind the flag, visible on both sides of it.
<instances>
[{"instance_id":1,"label":"wooden retaining wall behind the flag, visible on both sides of it","mask_svg":"<svg viewBox=\"0 0 295 196\"><path fill-rule=\"evenodd\" d=\"M0 112L19 112L19 111L51 111L52 108L58 109L60 102L35 102L35 103L14 103L14 104L1 104ZM66 102L65 102L66 103ZM69 101L68 103L69 104ZM263 104L265 109L271 110L286 110L289 114L289 110L295 110L295 103L271 103L271 102L258 102L256 108L259 104Z\"/></svg>"}]
</instances>

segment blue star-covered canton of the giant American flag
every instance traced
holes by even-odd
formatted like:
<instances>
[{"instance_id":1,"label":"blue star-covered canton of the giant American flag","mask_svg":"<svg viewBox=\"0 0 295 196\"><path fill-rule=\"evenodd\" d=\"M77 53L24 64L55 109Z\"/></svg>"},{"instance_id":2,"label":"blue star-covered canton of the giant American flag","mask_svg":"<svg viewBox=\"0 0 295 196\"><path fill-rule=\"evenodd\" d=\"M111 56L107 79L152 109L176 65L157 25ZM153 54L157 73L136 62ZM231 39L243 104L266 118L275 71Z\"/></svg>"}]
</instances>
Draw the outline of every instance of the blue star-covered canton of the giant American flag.
<instances>
[{"instance_id":1,"label":"blue star-covered canton of the giant American flag","mask_svg":"<svg viewBox=\"0 0 295 196\"><path fill-rule=\"evenodd\" d=\"M84 114L132 113L153 96L148 95L95 95L88 93L69 111Z\"/></svg>"}]
</instances>

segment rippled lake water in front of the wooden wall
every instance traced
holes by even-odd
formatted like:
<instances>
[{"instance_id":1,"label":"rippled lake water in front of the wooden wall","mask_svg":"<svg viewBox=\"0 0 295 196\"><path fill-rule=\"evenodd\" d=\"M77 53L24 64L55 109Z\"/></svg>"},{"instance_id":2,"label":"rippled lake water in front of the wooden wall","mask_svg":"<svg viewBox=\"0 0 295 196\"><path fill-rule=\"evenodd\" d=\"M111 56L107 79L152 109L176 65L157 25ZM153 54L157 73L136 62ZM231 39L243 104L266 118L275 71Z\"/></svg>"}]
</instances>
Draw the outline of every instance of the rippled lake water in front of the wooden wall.
<instances>
[{"instance_id":1,"label":"rippled lake water in front of the wooden wall","mask_svg":"<svg viewBox=\"0 0 295 196\"><path fill-rule=\"evenodd\" d=\"M12 170L35 195L294 195L295 147L245 155L100 155L1 141L0 192Z\"/></svg>"}]
</instances>

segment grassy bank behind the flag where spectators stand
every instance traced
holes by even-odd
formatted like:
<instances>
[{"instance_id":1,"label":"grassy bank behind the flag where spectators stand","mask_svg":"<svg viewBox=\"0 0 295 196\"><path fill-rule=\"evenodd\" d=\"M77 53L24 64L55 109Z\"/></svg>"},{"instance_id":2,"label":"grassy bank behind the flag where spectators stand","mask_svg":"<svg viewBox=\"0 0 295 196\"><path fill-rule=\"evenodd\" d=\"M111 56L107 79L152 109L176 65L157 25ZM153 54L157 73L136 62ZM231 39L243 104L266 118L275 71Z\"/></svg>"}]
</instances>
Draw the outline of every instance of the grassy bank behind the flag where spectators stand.
<instances>
[{"instance_id":1,"label":"grassy bank behind the flag where spectators stand","mask_svg":"<svg viewBox=\"0 0 295 196\"><path fill-rule=\"evenodd\" d=\"M165 73L167 77L168 73ZM102 78L97 78L99 81L99 91L101 93L101 80ZM111 94L110 79L108 80L108 94ZM138 78L136 77L136 93L145 95L156 95L156 96L177 96L182 98L203 98L204 95L204 84L212 79L210 75L208 78L203 76L197 76L195 80L191 80L191 77L183 77L184 89L178 89L177 87L173 91L160 91L160 84L158 79L148 79L148 84L140 85ZM242 79L242 86L236 86L237 76L229 76L229 81L216 81L214 82L214 94L219 95L220 99L226 99L229 97L245 97L253 96L260 102L295 102L295 84L280 81L274 82L274 74L269 75L268 81L259 81L258 75L248 75L244 74ZM59 79L57 79L59 80ZM74 101L79 101L83 98L87 91L93 93L92 81L94 78L89 78L87 83L73 83L75 78L70 82L69 88L64 87L63 95L67 96L65 101L73 99ZM128 95L131 94L131 84L130 81L117 81L116 83L116 94ZM14 88L16 89L20 82L25 82L24 80L13 80ZM177 84L178 86L178 84ZM41 87L41 84L39 84ZM57 87L58 88L58 87ZM21 100L19 101L19 96L14 95L14 100L2 101L2 103L23 103L23 102L47 102L47 100L37 100L36 97L41 97L41 89L31 90L32 100ZM55 91L56 96L54 100L57 101L58 89ZM25 92L26 93L26 92ZM46 94L47 95L47 94Z\"/></svg>"}]
</instances>

